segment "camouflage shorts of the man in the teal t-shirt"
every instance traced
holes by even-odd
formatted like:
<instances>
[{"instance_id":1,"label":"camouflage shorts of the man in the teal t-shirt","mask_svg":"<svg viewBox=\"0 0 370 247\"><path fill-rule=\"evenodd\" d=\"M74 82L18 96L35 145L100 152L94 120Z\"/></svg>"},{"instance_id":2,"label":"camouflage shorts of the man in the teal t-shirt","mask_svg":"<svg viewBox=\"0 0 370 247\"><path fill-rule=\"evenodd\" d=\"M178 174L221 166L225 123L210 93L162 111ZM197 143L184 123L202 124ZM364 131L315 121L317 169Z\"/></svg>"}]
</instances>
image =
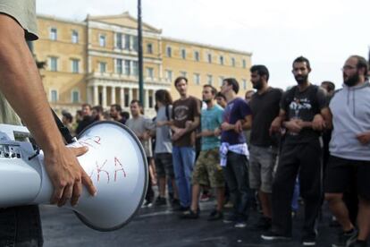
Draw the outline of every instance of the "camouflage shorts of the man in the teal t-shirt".
<instances>
[{"instance_id":1,"label":"camouflage shorts of the man in the teal t-shirt","mask_svg":"<svg viewBox=\"0 0 370 247\"><path fill-rule=\"evenodd\" d=\"M222 188L225 186L223 168L220 166L218 149L200 151L193 171L193 184Z\"/></svg>"}]
</instances>

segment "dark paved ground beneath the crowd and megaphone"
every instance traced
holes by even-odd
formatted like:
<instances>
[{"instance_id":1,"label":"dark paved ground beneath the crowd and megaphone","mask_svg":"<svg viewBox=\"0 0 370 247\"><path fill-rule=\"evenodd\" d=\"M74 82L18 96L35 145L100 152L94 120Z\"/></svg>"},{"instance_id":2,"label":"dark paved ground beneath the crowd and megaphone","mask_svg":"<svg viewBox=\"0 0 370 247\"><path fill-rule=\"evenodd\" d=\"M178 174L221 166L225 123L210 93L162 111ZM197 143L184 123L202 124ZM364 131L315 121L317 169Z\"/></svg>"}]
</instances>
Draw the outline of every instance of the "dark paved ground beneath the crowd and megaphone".
<instances>
[{"instance_id":1,"label":"dark paved ground beneath the crowd and megaphone","mask_svg":"<svg viewBox=\"0 0 370 247\"><path fill-rule=\"evenodd\" d=\"M259 232L249 227L234 228L222 221L208 222L206 217L213 209L213 201L201 203L201 217L179 219L170 208L140 209L129 225L114 232L100 233L89 229L67 209L52 206L41 207L44 246L300 246L300 233L303 211L294 219L294 237L290 242L265 243ZM257 212L252 211L248 224L256 222ZM318 225L317 246L331 246L338 229L328 226L329 214Z\"/></svg>"}]
</instances>

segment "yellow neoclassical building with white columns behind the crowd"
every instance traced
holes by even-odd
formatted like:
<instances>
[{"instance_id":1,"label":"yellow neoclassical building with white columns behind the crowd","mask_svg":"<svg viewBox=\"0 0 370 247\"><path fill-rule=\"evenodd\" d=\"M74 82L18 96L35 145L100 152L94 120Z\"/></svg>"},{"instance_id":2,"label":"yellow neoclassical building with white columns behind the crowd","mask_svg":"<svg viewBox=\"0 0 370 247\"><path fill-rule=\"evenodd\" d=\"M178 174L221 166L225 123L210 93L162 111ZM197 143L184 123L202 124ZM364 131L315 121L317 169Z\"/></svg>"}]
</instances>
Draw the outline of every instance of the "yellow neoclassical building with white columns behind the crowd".
<instances>
[{"instance_id":1,"label":"yellow neoclassical building with white columns behind the crowd","mask_svg":"<svg viewBox=\"0 0 370 247\"><path fill-rule=\"evenodd\" d=\"M40 70L47 98L57 112L74 113L83 103L105 108L139 98L137 20L130 13L90 16L71 21L38 15L34 53L46 66ZM189 94L201 98L204 84L219 89L226 77L240 81L240 96L251 88L251 53L176 38L143 23L144 97L147 115L155 115L155 93L173 81L189 79Z\"/></svg>"}]
</instances>

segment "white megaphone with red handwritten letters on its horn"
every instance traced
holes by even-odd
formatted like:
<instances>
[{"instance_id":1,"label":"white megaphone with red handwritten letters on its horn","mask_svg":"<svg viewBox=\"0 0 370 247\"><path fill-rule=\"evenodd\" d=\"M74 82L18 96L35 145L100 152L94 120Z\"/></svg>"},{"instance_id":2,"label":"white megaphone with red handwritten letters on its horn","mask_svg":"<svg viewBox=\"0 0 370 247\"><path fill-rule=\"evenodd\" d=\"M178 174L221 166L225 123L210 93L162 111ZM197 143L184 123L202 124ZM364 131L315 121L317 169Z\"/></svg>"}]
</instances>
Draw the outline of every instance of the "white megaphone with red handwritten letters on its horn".
<instances>
[{"instance_id":1,"label":"white megaphone with red handwritten letters on its horn","mask_svg":"<svg viewBox=\"0 0 370 247\"><path fill-rule=\"evenodd\" d=\"M31 143L16 141L27 136L26 127L0 124L0 208L49 204L54 191L42 151L35 155ZM112 231L130 222L148 183L147 158L135 134L123 124L97 122L68 146L88 146L78 159L97 187L97 196L84 188L78 205L65 207L98 231Z\"/></svg>"}]
</instances>

